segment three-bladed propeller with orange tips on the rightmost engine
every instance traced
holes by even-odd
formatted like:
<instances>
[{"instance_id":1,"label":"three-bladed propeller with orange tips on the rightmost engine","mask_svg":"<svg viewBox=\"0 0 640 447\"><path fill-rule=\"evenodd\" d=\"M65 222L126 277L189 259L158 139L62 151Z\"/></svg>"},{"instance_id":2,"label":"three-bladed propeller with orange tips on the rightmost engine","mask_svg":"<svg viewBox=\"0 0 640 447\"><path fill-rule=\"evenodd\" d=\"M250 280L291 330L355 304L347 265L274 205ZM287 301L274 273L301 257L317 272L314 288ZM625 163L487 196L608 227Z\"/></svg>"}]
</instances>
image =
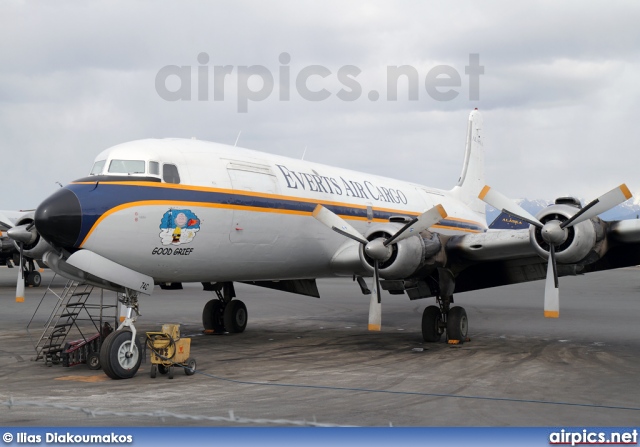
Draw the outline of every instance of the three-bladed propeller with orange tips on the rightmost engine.
<instances>
[{"instance_id":1,"label":"three-bladed propeller with orange tips on the rightmost engine","mask_svg":"<svg viewBox=\"0 0 640 447\"><path fill-rule=\"evenodd\" d=\"M597 199L589 202L580 211L571 216L568 220L560 222L550 220L546 223L529 214L525 209L518 206L511 199L491 189L489 186L482 188L478 195L480 200L485 201L492 207L501 210L503 213L521 219L529 224L540 228L542 239L549 244L549 261L547 263L547 279L544 291L544 316L547 318L558 318L560 316L560 294L558 288L558 267L556 264L556 248L567 239L567 228L584 222L598 214L604 213L611 208L621 204L631 198L631 192L624 183L617 188L603 194Z\"/></svg>"}]
</instances>

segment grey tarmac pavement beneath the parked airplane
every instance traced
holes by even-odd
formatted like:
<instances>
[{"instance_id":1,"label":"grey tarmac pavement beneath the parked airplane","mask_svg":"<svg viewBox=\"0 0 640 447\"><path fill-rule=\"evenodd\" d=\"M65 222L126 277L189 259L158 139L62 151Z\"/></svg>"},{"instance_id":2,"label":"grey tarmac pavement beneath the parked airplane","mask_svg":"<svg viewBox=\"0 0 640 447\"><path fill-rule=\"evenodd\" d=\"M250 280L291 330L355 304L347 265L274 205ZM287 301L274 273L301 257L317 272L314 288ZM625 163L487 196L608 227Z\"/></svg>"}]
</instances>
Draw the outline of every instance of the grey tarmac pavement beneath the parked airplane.
<instances>
[{"instance_id":1,"label":"grey tarmac pavement beneath the parked airplane","mask_svg":"<svg viewBox=\"0 0 640 447\"><path fill-rule=\"evenodd\" d=\"M0 268L0 425L5 426L634 426L640 420L640 269L560 279L559 319L543 317L544 283L456 295L471 341L423 343L433 299L369 297L350 279L319 281L322 298L236 285L242 334L204 335L212 298L197 284L140 300L140 334L180 323L197 373L129 380L86 365L30 359L26 331L43 287L14 300ZM57 278L54 287L64 281ZM113 295L105 294L106 299ZM111 298L109 298L111 297ZM51 305L50 301L42 306ZM32 326L41 326L37 317ZM37 331L33 331L34 333Z\"/></svg>"}]
</instances>

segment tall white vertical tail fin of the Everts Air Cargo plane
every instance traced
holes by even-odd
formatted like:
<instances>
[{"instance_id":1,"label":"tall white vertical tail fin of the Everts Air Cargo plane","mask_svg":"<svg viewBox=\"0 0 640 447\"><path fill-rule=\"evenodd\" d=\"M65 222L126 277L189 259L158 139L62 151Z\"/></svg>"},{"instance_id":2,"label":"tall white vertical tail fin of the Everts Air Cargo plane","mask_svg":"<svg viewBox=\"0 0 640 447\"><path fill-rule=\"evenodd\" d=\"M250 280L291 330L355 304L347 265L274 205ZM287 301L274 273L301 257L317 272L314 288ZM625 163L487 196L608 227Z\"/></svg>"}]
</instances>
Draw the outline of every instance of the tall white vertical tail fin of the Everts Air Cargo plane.
<instances>
[{"instance_id":1,"label":"tall white vertical tail fin of the Everts Air Cargo plane","mask_svg":"<svg viewBox=\"0 0 640 447\"><path fill-rule=\"evenodd\" d=\"M464 164L458 184L451 193L478 214L485 215L485 204L478 194L485 185L484 147L482 145L482 115L475 109L469 114Z\"/></svg>"}]
</instances>

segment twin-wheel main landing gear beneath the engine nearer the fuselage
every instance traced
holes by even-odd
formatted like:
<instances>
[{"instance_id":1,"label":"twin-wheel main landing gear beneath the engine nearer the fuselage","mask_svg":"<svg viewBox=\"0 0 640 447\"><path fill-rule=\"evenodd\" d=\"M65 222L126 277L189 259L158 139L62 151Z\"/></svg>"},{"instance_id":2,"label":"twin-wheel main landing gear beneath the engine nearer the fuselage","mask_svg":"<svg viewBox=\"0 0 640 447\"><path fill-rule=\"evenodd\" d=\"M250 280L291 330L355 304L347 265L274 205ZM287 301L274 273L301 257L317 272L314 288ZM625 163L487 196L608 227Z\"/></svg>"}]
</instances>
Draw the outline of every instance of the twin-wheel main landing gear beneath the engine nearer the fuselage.
<instances>
[{"instance_id":1,"label":"twin-wheel main landing gear beneath the engine nearer the fuselage","mask_svg":"<svg viewBox=\"0 0 640 447\"><path fill-rule=\"evenodd\" d=\"M447 332L447 341L452 344L464 343L467 339L469 322L463 307L454 306L453 295L438 296L437 306L427 306L422 313L422 338L426 342L436 342Z\"/></svg>"}]
</instances>

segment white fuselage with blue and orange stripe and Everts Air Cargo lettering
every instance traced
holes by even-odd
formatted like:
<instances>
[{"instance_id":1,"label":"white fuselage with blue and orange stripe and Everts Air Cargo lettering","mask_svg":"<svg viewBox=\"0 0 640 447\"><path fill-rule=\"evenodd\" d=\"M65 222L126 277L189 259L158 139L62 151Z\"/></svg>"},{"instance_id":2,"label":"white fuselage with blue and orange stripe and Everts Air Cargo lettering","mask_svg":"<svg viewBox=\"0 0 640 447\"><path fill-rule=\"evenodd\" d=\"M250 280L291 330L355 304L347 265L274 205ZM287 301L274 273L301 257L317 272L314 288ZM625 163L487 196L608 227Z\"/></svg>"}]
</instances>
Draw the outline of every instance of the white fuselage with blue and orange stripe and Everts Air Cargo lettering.
<instances>
[{"instance_id":1,"label":"white fuselage with blue and orange stripe and Everts Air Cargo lettering","mask_svg":"<svg viewBox=\"0 0 640 447\"><path fill-rule=\"evenodd\" d=\"M317 204L362 233L391 216L413 217L437 204L448 216L432 231L486 230L484 216L447 191L238 147L141 140L96 157L103 160L95 174L115 175L108 172L114 160L113 166L144 161L144 173L67 186L83 210L77 246L156 282L335 276L331 259L345 238L312 217ZM179 184L149 181L162 179L165 165L177 167Z\"/></svg>"}]
</instances>

